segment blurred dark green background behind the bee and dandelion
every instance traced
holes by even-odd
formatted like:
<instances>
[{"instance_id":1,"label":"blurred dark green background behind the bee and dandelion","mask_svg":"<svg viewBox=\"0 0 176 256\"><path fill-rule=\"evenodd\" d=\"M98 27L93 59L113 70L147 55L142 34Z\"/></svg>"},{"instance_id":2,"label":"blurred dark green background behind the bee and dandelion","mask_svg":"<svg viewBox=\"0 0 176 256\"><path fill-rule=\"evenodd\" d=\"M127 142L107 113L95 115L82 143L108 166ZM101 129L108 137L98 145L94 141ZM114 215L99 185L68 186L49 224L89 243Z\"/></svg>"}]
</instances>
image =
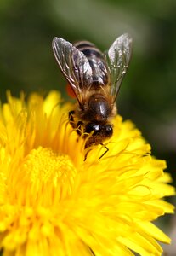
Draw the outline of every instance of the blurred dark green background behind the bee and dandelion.
<instances>
[{"instance_id":1,"label":"blurred dark green background behind the bee and dandelion","mask_svg":"<svg viewBox=\"0 0 176 256\"><path fill-rule=\"evenodd\" d=\"M122 33L133 37L133 57L117 104L166 159L175 177L176 1L1 0L0 96L6 90L61 90L65 79L51 49L57 36L88 39L108 49Z\"/></svg>"}]
</instances>

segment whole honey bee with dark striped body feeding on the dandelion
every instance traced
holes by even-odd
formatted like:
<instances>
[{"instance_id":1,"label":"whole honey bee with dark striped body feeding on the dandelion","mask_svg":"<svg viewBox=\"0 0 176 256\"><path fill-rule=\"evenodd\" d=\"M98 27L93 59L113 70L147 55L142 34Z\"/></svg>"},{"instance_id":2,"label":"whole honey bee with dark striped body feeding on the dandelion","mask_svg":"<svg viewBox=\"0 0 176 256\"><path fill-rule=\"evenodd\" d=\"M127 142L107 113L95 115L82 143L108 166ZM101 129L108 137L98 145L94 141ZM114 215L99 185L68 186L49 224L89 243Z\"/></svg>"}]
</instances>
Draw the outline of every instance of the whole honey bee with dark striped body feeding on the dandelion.
<instances>
[{"instance_id":1,"label":"whole honey bee with dark striped body feeding on the dandelion","mask_svg":"<svg viewBox=\"0 0 176 256\"><path fill-rule=\"evenodd\" d=\"M88 137L85 148L103 145L113 134L111 119L116 115L116 96L128 69L132 38L123 34L105 53L88 41L71 44L62 38L54 38L52 47L77 97L77 108L69 113L72 127L79 135L83 131L84 137ZM109 149L105 148L107 152Z\"/></svg>"}]
</instances>

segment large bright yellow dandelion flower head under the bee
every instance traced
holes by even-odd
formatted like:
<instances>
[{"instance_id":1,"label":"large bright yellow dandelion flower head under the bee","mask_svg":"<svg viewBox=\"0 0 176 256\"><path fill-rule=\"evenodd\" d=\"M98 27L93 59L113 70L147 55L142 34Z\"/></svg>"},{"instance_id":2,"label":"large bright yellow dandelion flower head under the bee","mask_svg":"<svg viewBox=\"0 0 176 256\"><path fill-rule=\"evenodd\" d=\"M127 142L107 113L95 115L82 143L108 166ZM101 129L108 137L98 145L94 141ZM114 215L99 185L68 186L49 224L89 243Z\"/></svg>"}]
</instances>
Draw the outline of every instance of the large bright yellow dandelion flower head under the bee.
<instances>
[{"instance_id":1,"label":"large bright yellow dandelion flower head under the bee","mask_svg":"<svg viewBox=\"0 0 176 256\"><path fill-rule=\"evenodd\" d=\"M173 206L150 145L129 121L114 119L109 151L68 123L71 104L52 91L25 102L8 95L0 109L0 247L3 255L161 255L170 239L151 222Z\"/></svg>"}]
</instances>

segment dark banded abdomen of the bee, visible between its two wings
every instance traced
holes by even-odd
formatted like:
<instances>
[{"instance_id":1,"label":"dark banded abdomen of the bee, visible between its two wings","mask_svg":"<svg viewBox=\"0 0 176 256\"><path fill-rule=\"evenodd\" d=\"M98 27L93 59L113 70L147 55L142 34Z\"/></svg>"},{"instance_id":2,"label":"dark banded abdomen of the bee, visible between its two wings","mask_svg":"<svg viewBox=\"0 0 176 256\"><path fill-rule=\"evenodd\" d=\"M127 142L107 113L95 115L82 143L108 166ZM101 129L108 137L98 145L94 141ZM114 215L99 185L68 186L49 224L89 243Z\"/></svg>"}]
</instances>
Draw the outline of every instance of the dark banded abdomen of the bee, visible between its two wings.
<instances>
[{"instance_id":1,"label":"dark banded abdomen of the bee, visible between its two wings","mask_svg":"<svg viewBox=\"0 0 176 256\"><path fill-rule=\"evenodd\" d=\"M99 90L99 86L105 86L109 83L109 73L102 52L97 49L94 44L88 41L80 41L74 46L82 51L87 57L93 73L93 88Z\"/></svg>"}]
</instances>

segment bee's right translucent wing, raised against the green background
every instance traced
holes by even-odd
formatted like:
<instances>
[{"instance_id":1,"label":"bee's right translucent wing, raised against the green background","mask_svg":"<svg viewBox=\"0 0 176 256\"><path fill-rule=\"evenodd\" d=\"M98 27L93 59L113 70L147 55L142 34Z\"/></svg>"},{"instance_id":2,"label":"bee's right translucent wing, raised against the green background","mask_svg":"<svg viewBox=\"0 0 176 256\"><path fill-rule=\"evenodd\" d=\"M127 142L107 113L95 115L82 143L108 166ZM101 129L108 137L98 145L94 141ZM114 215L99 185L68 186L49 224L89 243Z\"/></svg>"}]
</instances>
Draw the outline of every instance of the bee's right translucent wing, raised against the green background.
<instances>
[{"instance_id":1,"label":"bee's right translucent wing, raised against the green background","mask_svg":"<svg viewBox=\"0 0 176 256\"><path fill-rule=\"evenodd\" d=\"M116 101L117 93L127 72L132 53L132 38L128 33L123 34L111 45L105 54L105 59L111 74L111 96Z\"/></svg>"}]
</instances>

